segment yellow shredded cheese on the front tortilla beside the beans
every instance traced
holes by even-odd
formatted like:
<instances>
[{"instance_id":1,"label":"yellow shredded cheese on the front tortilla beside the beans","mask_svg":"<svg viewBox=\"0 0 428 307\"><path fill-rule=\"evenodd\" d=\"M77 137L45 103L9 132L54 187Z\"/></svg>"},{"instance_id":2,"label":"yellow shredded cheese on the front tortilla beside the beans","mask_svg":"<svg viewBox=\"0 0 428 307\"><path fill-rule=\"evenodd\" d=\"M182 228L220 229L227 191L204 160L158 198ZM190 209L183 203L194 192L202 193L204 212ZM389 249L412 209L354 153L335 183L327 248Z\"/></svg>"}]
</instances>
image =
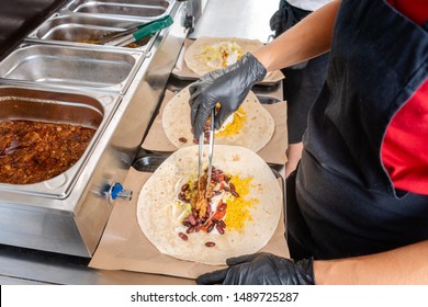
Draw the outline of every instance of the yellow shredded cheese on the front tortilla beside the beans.
<instances>
[{"instance_id":1,"label":"yellow shredded cheese on the front tortilla beside the beans","mask_svg":"<svg viewBox=\"0 0 428 307\"><path fill-rule=\"evenodd\" d=\"M236 192L239 194L239 197L230 196L227 200L227 209L225 216L226 229L237 230L243 232L245 229L246 223L252 220L252 216L250 214L250 208L254 207L254 204L258 203L259 200L250 198L246 200L250 192L252 178L241 179L239 175L235 175L232 178L232 183L235 185Z\"/></svg>"}]
</instances>

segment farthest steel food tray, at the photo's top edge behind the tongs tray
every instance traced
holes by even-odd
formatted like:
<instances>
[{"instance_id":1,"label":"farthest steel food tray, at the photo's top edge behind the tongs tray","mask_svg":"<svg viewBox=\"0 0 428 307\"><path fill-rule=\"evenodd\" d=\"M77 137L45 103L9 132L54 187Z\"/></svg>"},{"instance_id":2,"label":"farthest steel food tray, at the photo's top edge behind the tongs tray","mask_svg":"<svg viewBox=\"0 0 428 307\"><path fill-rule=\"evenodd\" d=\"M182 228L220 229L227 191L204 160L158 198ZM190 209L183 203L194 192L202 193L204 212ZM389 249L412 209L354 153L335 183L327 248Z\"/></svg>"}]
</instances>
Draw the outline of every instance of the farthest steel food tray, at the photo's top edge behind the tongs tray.
<instances>
[{"instance_id":1,"label":"farthest steel food tray, at the photo's top edge behind the tongs tray","mask_svg":"<svg viewBox=\"0 0 428 307\"><path fill-rule=\"evenodd\" d=\"M102 14L128 19L159 18L168 14L173 0L75 0L63 13Z\"/></svg>"}]
</instances>

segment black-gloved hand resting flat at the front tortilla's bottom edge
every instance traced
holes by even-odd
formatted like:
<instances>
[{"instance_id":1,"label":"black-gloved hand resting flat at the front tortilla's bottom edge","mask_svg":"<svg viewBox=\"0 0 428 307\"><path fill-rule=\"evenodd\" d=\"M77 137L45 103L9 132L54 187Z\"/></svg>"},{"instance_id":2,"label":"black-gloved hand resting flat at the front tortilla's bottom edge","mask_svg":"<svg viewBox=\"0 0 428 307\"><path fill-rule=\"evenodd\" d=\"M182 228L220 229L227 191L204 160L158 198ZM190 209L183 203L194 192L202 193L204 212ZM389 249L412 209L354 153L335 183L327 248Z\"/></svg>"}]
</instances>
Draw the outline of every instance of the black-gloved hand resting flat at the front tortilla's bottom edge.
<instances>
[{"instance_id":1,"label":"black-gloved hand resting flat at the front tortilla's bottom edge","mask_svg":"<svg viewBox=\"0 0 428 307\"><path fill-rule=\"evenodd\" d=\"M205 273L199 285L314 285L313 259L293 260L260 252L230 258L229 268Z\"/></svg>"}]
</instances>

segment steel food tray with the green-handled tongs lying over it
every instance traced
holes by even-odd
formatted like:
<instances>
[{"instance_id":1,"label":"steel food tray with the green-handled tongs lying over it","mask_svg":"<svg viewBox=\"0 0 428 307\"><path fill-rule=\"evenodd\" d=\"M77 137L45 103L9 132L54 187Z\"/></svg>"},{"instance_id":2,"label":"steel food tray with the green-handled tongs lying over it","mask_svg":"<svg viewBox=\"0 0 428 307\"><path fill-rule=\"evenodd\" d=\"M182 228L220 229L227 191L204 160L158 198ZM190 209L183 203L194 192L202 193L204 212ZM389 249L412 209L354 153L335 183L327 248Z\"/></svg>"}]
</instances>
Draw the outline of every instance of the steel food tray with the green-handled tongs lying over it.
<instances>
[{"instance_id":1,"label":"steel food tray with the green-handled tongs lying over it","mask_svg":"<svg viewBox=\"0 0 428 307\"><path fill-rule=\"evenodd\" d=\"M146 20L146 22L148 21L149 20ZM55 14L30 33L26 39L40 39L43 43L54 44L78 44L95 48L112 48L112 46L91 42L94 42L109 33L125 31L142 23L145 22L128 19L109 19L90 14ZM133 49L148 52L151 48L156 36L157 34L139 39L135 43L137 47Z\"/></svg>"}]
</instances>

